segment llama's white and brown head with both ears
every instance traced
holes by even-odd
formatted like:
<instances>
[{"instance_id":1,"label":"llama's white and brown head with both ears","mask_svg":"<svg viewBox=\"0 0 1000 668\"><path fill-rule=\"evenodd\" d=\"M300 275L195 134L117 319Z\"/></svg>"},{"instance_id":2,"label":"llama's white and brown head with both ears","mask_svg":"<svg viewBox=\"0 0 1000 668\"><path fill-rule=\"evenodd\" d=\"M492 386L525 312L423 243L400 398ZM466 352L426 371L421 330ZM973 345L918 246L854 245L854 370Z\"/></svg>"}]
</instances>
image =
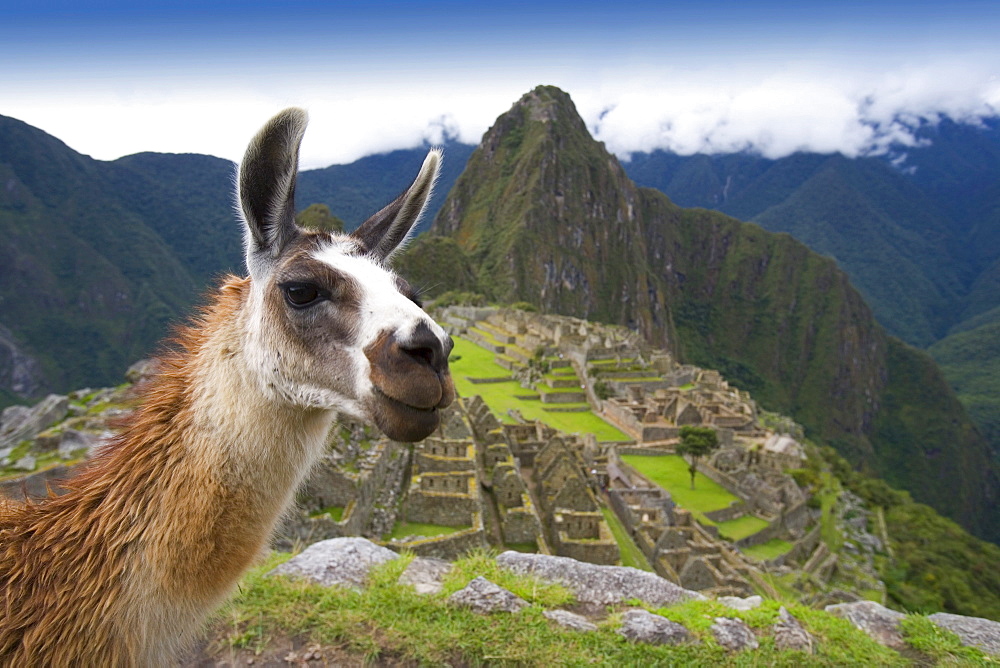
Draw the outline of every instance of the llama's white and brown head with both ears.
<instances>
[{"instance_id":1,"label":"llama's white and brown head with both ears","mask_svg":"<svg viewBox=\"0 0 1000 668\"><path fill-rule=\"evenodd\" d=\"M250 142L237 188L252 308L248 359L264 391L332 409L417 441L455 396L452 341L386 266L423 211L441 155L352 234L295 224L295 177L307 117L286 109Z\"/></svg>"}]
</instances>

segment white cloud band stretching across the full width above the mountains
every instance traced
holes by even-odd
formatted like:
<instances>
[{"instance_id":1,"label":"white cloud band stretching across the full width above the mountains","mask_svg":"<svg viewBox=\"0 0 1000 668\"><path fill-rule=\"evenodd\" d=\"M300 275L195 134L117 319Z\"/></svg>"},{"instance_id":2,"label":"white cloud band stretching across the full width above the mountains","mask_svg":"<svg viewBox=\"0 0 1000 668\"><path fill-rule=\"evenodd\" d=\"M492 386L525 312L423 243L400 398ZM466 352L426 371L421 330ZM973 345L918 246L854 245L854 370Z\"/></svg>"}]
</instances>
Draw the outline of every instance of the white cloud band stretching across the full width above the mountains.
<instances>
[{"instance_id":1,"label":"white cloud band stretching across the full width above the mountains","mask_svg":"<svg viewBox=\"0 0 1000 668\"><path fill-rule=\"evenodd\" d=\"M303 167L457 137L477 143L497 116L539 83L569 92L595 137L616 154L753 149L849 156L912 144L919 118L975 121L1000 110L1000 59L975 54L924 65L874 67L831 59L796 65L719 60L701 69L610 60L475 62L436 68L226 79L155 72L74 81L4 81L0 113L41 127L100 159L139 151L198 152L238 160L249 137L288 105L312 119ZM623 74L628 72L627 75ZM74 75L74 76L78 76Z\"/></svg>"}]
</instances>

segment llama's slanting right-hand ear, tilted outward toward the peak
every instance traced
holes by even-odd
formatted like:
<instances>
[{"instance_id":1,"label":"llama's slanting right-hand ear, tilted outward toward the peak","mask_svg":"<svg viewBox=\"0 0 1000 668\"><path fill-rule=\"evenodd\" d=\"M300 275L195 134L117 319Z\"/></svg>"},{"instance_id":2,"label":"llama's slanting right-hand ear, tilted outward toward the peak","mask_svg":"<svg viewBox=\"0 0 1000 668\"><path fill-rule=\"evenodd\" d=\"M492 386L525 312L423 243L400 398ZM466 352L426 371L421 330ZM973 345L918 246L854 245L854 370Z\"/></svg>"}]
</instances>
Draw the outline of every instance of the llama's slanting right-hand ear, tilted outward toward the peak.
<instances>
[{"instance_id":1,"label":"llama's slanting right-hand ear, tilted outward toward the peak","mask_svg":"<svg viewBox=\"0 0 1000 668\"><path fill-rule=\"evenodd\" d=\"M351 236L364 245L368 255L386 260L392 257L403 243L406 235L420 219L427 200L430 199L441 159L439 149L433 149L428 153L413 185L354 230Z\"/></svg>"}]
</instances>

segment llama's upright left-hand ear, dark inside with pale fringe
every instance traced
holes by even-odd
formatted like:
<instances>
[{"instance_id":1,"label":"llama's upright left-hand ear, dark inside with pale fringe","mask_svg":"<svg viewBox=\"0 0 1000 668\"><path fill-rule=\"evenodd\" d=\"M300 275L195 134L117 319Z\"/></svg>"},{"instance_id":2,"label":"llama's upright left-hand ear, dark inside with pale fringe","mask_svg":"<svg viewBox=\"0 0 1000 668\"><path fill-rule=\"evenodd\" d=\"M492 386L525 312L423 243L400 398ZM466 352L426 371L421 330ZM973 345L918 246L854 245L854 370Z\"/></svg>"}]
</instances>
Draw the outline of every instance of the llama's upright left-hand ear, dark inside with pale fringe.
<instances>
[{"instance_id":1,"label":"llama's upright left-hand ear, dark inside with pale fringe","mask_svg":"<svg viewBox=\"0 0 1000 668\"><path fill-rule=\"evenodd\" d=\"M262 253L277 257L298 234L295 176L299 144L308 121L302 109L285 109L257 132L243 156L237 187L247 225L248 267L256 264Z\"/></svg>"}]
</instances>

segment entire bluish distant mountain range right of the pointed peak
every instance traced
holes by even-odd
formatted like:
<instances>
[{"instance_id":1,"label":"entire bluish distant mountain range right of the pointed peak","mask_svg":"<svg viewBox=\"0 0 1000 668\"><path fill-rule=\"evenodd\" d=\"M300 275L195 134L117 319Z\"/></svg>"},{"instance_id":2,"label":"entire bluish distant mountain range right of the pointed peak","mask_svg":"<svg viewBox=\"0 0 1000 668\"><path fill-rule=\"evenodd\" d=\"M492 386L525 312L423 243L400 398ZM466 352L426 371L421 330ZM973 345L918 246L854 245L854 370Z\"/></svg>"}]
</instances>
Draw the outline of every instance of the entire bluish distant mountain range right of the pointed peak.
<instances>
[{"instance_id":1,"label":"entire bluish distant mountain range right of the pointed peak","mask_svg":"<svg viewBox=\"0 0 1000 668\"><path fill-rule=\"evenodd\" d=\"M625 163L681 206L788 232L835 257L889 331L925 347L1000 305L1000 126L927 125L903 168L884 157L678 156ZM961 175L960 177L957 175ZM980 278L982 277L982 278Z\"/></svg>"}]
</instances>

